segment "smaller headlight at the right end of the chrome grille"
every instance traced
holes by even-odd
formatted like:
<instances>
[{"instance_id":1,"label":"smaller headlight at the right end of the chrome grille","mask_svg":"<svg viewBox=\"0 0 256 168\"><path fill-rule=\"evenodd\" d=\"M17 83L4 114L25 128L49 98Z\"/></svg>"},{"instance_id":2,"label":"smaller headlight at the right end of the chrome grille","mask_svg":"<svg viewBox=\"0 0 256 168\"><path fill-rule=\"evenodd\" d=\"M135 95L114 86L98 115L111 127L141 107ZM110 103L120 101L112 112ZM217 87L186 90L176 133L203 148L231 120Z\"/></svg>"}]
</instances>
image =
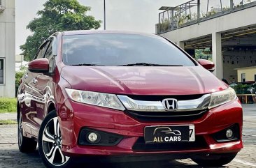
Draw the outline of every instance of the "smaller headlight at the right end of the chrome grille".
<instances>
[{"instance_id":1,"label":"smaller headlight at the right end of the chrome grille","mask_svg":"<svg viewBox=\"0 0 256 168\"><path fill-rule=\"evenodd\" d=\"M236 99L236 92L234 89L230 88L224 91L218 91L215 93L211 93L211 101L209 105L209 109L213 107L217 107L219 105L223 105L226 102Z\"/></svg>"}]
</instances>

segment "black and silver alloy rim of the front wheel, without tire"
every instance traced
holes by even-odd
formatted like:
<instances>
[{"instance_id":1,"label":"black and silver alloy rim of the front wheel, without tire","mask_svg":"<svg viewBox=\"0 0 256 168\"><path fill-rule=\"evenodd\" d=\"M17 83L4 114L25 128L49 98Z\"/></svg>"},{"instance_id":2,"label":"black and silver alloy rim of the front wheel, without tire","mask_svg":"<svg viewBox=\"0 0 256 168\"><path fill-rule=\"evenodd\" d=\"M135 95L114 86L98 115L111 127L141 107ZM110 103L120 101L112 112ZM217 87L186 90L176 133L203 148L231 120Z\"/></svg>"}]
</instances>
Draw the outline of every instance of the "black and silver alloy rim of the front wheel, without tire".
<instances>
[{"instance_id":1,"label":"black and silver alloy rim of the front wheel, without tire","mask_svg":"<svg viewBox=\"0 0 256 168\"><path fill-rule=\"evenodd\" d=\"M69 157L65 156L61 151L62 135L57 117L50 119L45 125L41 143L45 158L50 164L58 167L69 161Z\"/></svg>"}]
</instances>

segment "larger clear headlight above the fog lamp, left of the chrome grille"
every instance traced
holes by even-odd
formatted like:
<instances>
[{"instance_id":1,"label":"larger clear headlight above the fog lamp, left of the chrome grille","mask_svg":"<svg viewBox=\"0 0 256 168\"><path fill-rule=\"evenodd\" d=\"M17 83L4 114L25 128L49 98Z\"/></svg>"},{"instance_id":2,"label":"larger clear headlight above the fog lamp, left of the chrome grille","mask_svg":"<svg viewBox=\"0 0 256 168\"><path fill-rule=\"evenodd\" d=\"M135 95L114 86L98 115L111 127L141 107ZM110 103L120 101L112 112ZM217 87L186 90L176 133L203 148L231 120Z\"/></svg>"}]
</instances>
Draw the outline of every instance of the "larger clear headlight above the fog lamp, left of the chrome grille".
<instances>
[{"instance_id":1,"label":"larger clear headlight above the fog lamp, left of the chrome grille","mask_svg":"<svg viewBox=\"0 0 256 168\"><path fill-rule=\"evenodd\" d=\"M98 93L92 91L79 91L74 89L65 89L69 98L76 102L83 102L89 105L108 107L111 109L125 110L120 100L114 94Z\"/></svg>"}]
</instances>

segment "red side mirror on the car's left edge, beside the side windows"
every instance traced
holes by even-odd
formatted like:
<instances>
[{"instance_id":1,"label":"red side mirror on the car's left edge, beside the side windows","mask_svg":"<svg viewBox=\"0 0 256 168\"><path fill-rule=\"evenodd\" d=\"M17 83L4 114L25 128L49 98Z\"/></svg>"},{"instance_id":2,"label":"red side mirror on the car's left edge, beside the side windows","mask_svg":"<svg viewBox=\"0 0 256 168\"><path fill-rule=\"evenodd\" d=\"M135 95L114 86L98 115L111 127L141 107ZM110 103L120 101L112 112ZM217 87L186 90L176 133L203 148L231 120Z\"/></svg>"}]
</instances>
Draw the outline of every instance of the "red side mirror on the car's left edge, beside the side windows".
<instances>
[{"instance_id":1,"label":"red side mirror on the car's left edge, beside the side windows","mask_svg":"<svg viewBox=\"0 0 256 168\"><path fill-rule=\"evenodd\" d=\"M29 63L29 71L35 73L49 72L49 60L48 59L35 59Z\"/></svg>"}]
</instances>

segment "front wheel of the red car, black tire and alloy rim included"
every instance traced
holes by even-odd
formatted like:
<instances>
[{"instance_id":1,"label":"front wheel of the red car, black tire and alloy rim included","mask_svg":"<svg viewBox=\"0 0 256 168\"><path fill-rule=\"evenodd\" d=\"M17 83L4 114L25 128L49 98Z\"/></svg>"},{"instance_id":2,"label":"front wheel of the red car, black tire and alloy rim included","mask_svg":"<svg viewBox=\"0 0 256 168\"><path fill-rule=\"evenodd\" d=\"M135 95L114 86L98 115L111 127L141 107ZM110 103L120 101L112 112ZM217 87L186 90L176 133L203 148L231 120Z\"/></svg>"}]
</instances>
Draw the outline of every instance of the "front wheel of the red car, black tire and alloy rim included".
<instances>
[{"instance_id":1,"label":"front wheel of the red car, black tire and alloy rim included","mask_svg":"<svg viewBox=\"0 0 256 168\"><path fill-rule=\"evenodd\" d=\"M71 167L71 158L62 151L62 135L59 128L56 111L45 117L38 136L38 151L43 163L48 168Z\"/></svg>"}]
</instances>

